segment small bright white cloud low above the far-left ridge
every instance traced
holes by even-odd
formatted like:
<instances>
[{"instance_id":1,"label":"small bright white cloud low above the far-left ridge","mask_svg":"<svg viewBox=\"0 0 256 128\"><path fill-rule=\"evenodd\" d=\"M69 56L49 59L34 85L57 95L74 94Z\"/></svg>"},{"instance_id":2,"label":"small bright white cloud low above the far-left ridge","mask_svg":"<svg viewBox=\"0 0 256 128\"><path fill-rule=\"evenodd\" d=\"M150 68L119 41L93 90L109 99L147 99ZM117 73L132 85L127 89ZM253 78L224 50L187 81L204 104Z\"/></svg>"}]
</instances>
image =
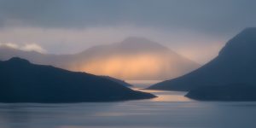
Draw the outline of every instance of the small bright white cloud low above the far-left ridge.
<instances>
[{"instance_id":1,"label":"small bright white cloud low above the far-left ridge","mask_svg":"<svg viewBox=\"0 0 256 128\"><path fill-rule=\"evenodd\" d=\"M37 51L39 53L46 53L47 50L42 48L38 44L23 44L23 45L18 45L14 43L0 43L0 47L8 47L11 49L20 49L23 51Z\"/></svg>"}]
</instances>

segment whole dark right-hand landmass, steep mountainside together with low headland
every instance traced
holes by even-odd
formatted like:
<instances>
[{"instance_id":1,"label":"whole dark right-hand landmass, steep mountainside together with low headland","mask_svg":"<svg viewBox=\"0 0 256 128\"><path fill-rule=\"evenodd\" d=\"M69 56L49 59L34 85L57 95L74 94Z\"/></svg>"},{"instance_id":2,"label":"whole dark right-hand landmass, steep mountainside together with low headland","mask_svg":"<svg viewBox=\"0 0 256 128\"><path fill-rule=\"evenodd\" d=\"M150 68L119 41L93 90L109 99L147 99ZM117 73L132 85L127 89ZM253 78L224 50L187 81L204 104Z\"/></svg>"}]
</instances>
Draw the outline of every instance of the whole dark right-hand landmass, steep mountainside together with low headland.
<instances>
[{"instance_id":1,"label":"whole dark right-hand landmass, steep mountainside together with low headland","mask_svg":"<svg viewBox=\"0 0 256 128\"><path fill-rule=\"evenodd\" d=\"M256 101L256 28L247 28L194 72L154 84L150 90L185 90L195 99ZM247 93L248 92L248 93Z\"/></svg>"}]
</instances>

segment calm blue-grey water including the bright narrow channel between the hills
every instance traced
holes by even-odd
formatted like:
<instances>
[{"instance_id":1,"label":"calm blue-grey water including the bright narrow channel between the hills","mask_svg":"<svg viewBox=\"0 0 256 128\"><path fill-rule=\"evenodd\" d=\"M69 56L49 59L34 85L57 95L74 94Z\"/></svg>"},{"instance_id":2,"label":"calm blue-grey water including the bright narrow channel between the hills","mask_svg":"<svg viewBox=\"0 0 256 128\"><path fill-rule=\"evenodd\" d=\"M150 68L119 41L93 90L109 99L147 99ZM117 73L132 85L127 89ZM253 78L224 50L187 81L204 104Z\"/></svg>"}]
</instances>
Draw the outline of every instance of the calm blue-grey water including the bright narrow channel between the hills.
<instances>
[{"instance_id":1,"label":"calm blue-grey water including the bright narrow channel between the hills","mask_svg":"<svg viewBox=\"0 0 256 128\"><path fill-rule=\"evenodd\" d=\"M147 85L137 83L137 87ZM0 128L256 127L256 102L196 102L184 97L184 92L150 92L159 97L128 102L0 104Z\"/></svg>"}]
</instances>

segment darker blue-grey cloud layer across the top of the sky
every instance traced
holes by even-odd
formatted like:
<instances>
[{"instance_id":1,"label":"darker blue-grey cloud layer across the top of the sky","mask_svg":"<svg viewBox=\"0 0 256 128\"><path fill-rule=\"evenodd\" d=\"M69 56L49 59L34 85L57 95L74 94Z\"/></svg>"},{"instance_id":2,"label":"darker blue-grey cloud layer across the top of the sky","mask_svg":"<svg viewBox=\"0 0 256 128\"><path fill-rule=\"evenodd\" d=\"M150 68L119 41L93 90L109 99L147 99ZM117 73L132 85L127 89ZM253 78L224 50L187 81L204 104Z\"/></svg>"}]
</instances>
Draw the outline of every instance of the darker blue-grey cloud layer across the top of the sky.
<instances>
[{"instance_id":1,"label":"darker blue-grey cloud layer across the top of the sky","mask_svg":"<svg viewBox=\"0 0 256 128\"><path fill-rule=\"evenodd\" d=\"M84 28L134 25L222 35L255 26L253 0L1 0L2 26Z\"/></svg>"}]
</instances>

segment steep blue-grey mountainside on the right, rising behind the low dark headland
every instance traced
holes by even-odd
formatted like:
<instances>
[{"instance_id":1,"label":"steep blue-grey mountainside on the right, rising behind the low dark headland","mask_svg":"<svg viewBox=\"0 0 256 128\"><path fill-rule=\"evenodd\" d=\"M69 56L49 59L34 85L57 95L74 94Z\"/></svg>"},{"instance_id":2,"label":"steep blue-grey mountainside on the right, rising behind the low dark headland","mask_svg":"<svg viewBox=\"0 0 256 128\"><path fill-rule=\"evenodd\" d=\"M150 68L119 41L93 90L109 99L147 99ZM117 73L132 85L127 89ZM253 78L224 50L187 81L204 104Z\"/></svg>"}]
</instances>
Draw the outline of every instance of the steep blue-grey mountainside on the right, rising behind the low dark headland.
<instances>
[{"instance_id":1,"label":"steep blue-grey mountainside on the right, rising behind the low dark headland","mask_svg":"<svg viewBox=\"0 0 256 128\"><path fill-rule=\"evenodd\" d=\"M236 35L220 50L218 56L199 69L159 84L152 90L193 90L201 86L236 83L256 86L256 28Z\"/></svg>"}]
</instances>

